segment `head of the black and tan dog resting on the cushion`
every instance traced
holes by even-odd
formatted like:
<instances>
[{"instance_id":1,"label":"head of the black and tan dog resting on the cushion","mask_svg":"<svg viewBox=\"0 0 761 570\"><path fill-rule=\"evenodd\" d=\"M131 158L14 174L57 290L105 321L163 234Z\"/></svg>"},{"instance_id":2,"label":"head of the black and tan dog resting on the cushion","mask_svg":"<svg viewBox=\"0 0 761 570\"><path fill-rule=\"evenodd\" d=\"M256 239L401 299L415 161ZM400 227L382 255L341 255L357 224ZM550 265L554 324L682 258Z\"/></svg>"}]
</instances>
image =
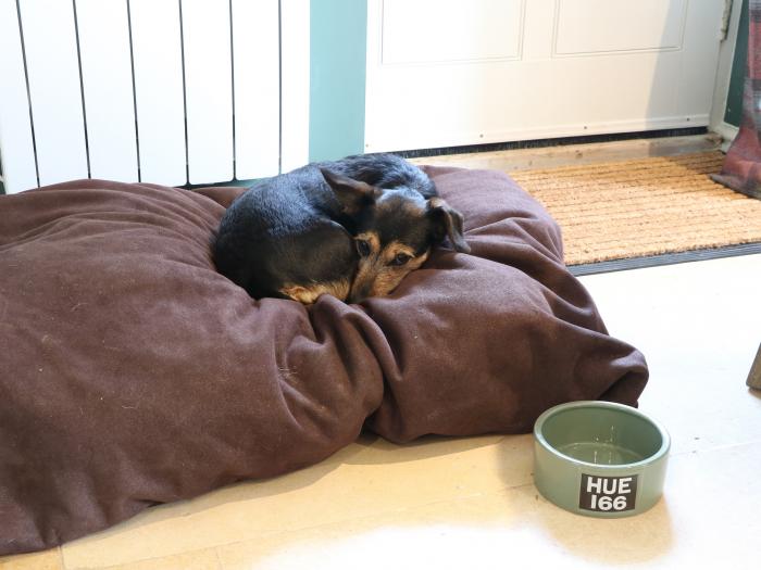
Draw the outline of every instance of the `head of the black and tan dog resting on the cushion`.
<instances>
[{"instance_id":1,"label":"head of the black and tan dog resting on the cushion","mask_svg":"<svg viewBox=\"0 0 761 570\"><path fill-rule=\"evenodd\" d=\"M354 226L359 265L349 303L394 291L445 238L456 251L471 251L462 235L462 215L442 199L426 200L404 186L382 189L325 168L321 172Z\"/></svg>"}]
</instances>

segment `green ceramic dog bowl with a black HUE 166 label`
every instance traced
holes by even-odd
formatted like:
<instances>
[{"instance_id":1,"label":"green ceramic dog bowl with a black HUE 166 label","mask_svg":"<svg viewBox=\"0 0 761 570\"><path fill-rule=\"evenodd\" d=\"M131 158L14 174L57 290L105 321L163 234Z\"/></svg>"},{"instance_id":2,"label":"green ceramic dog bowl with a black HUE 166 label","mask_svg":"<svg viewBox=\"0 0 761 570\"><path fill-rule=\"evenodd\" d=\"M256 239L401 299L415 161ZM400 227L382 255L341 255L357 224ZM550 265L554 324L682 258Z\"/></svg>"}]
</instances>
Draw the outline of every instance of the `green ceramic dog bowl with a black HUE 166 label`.
<instances>
[{"instance_id":1,"label":"green ceramic dog bowl with a black HUE 166 label","mask_svg":"<svg viewBox=\"0 0 761 570\"><path fill-rule=\"evenodd\" d=\"M663 494L671 438L641 411L611 402L571 402L534 425L534 483L572 512L638 515Z\"/></svg>"}]
</instances>

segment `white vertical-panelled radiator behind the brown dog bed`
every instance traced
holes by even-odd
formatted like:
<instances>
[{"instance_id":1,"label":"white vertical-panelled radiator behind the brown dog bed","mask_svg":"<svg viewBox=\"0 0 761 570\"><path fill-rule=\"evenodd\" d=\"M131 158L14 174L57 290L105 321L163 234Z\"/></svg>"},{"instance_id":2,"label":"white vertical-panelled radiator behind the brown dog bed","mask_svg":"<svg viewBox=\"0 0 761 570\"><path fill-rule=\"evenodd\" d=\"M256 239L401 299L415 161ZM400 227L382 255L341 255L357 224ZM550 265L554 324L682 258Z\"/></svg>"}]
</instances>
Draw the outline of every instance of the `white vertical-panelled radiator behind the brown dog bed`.
<instances>
[{"instance_id":1,"label":"white vertical-panelled radiator behind the brown dog bed","mask_svg":"<svg viewBox=\"0 0 761 570\"><path fill-rule=\"evenodd\" d=\"M0 0L5 191L308 162L309 0Z\"/></svg>"}]
</instances>

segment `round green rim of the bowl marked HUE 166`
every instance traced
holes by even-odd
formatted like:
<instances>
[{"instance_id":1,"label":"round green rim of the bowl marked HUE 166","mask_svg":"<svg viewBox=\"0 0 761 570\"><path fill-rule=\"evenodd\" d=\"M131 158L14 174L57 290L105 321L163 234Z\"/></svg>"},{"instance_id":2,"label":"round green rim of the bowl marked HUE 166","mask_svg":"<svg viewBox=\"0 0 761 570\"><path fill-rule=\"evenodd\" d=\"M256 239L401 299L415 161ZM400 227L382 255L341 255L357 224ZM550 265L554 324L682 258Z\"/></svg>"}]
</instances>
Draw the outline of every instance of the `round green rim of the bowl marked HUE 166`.
<instances>
[{"instance_id":1,"label":"round green rim of the bowl marked HUE 166","mask_svg":"<svg viewBox=\"0 0 761 570\"><path fill-rule=\"evenodd\" d=\"M545 426L545 421L547 421L548 418L551 416L554 416L556 414L559 414L561 411L565 411L567 409L575 409L575 408L603 408L603 409L614 409L616 411L622 411L624 414L628 414L631 416L636 416L648 423L650 423L652 427L654 427L658 432L661 435L661 446L658 448L656 453L652 455L649 455L645 459L641 459L640 461L635 461L632 464L617 464L617 465L604 465L604 464L592 464L590 461L584 461L582 459L576 459L575 457L571 457L570 455L565 455L564 453L561 453L558 451L556 447L550 445L550 443L545 439L545 435L542 433L542 428ZM665 456L669 453L669 449L671 448L671 435L669 435L669 432L666 429L663 427L663 425L658 421L654 418L651 418L647 414L641 413L635 407L627 406L625 404L619 404L615 402L604 402L604 401L599 401L599 400L581 400L577 402L566 402L564 404L558 404L557 406L552 406L551 408L545 410L534 422L534 441L539 443L541 447L550 453L551 455L554 455L556 457L563 459L565 461L569 461L570 464L577 465L577 466L585 466L585 467L592 467L595 469L600 469L602 471L617 471L621 469L633 469L633 468L639 468L639 467L645 467L650 464L653 464L661 459L663 456Z\"/></svg>"}]
</instances>

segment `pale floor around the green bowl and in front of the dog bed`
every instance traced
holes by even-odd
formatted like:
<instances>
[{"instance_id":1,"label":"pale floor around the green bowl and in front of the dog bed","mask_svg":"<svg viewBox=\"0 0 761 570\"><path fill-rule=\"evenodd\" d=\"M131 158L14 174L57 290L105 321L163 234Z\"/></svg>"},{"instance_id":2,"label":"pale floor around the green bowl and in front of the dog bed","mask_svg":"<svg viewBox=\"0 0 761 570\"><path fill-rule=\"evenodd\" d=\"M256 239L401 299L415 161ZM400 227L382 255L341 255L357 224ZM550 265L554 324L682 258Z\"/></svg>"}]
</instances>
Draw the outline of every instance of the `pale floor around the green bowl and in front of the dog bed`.
<instances>
[{"instance_id":1,"label":"pale floor around the green bowl and in front of the dog bed","mask_svg":"<svg viewBox=\"0 0 761 570\"><path fill-rule=\"evenodd\" d=\"M600 520L547 503L529 435L371 436L270 481L166 505L2 568L761 568L761 255L582 278L647 356L640 408L670 430L665 492Z\"/></svg>"}]
</instances>

